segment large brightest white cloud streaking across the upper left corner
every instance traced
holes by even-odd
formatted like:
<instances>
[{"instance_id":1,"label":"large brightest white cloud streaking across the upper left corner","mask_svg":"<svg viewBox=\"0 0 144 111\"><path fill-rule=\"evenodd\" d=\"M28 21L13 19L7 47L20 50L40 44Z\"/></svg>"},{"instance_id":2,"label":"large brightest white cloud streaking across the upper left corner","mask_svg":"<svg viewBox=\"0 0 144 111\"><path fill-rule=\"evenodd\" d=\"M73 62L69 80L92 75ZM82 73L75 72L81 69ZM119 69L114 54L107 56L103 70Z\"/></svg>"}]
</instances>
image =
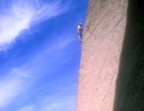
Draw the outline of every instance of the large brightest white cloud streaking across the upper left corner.
<instances>
[{"instance_id":1,"label":"large brightest white cloud streaking across the upper left corner","mask_svg":"<svg viewBox=\"0 0 144 111\"><path fill-rule=\"evenodd\" d=\"M40 0L13 0L0 12L0 50L6 48L24 29L43 20L56 17L68 10L60 0L41 2Z\"/></svg>"}]
</instances>

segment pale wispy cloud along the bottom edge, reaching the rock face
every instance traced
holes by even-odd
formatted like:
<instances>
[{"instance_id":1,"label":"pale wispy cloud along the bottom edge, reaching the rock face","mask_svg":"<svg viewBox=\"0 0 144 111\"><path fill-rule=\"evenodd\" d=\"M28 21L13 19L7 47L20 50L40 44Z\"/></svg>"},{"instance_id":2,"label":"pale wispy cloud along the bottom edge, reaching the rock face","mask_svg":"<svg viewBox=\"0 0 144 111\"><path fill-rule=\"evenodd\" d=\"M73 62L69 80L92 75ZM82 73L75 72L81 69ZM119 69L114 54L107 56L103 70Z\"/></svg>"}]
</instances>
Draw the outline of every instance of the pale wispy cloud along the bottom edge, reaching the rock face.
<instances>
[{"instance_id":1,"label":"pale wispy cloud along the bottom edge, reaching the rock face","mask_svg":"<svg viewBox=\"0 0 144 111\"><path fill-rule=\"evenodd\" d=\"M43 96L33 104L23 106L18 111L74 111L76 103L75 93L70 92L74 89L76 88L72 86L67 90L59 90L53 95Z\"/></svg>"}]
</instances>

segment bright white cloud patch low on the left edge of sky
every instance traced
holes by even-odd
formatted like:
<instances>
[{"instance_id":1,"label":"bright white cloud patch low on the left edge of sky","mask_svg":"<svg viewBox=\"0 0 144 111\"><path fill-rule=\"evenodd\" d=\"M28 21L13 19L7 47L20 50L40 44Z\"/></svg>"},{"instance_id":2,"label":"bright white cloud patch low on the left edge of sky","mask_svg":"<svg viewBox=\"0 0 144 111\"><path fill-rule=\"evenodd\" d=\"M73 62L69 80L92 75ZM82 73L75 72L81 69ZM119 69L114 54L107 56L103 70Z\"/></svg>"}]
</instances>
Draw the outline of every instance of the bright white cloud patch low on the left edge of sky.
<instances>
[{"instance_id":1,"label":"bright white cloud patch low on the left edge of sky","mask_svg":"<svg viewBox=\"0 0 144 111\"><path fill-rule=\"evenodd\" d=\"M20 75L20 73L22 75ZM6 107L13 102L30 85L29 77L23 76L22 70L13 69L0 82L0 108Z\"/></svg>"}]
</instances>

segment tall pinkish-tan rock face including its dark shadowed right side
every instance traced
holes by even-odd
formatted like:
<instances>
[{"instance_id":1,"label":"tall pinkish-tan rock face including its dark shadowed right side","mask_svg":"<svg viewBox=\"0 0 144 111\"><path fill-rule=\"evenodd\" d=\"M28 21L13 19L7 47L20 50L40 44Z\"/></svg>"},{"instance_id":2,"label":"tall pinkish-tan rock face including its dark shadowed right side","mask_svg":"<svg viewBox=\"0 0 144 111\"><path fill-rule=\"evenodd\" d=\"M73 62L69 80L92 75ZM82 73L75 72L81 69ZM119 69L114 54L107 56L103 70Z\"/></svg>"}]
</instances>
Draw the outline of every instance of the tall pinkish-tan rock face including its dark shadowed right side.
<instances>
[{"instance_id":1,"label":"tall pinkish-tan rock face including its dark shadowed right side","mask_svg":"<svg viewBox=\"0 0 144 111\"><path fill-rule=\"evenodd\" d=\"M89 0L76 111L144 111L143 0Z\"/></svg>"}]
</instances>

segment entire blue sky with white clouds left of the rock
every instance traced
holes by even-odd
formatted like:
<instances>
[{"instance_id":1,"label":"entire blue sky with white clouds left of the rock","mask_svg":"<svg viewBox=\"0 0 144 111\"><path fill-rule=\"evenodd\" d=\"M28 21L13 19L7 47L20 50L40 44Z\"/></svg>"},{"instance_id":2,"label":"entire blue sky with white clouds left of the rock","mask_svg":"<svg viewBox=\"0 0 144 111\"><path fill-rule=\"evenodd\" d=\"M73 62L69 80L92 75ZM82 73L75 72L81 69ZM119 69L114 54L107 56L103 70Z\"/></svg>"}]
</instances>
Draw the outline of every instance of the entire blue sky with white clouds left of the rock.
<instances>
[{"instance_id":1,"label":"entire blue sky with white clouds left of the rock","mask_svg":"<svg viewBox=\"0 0 144 111\"><path fill-rule=\"evenodd\" d=\"M74 111L88 0L0 1L0 110Z\"/></svg>"}]
</instances>

